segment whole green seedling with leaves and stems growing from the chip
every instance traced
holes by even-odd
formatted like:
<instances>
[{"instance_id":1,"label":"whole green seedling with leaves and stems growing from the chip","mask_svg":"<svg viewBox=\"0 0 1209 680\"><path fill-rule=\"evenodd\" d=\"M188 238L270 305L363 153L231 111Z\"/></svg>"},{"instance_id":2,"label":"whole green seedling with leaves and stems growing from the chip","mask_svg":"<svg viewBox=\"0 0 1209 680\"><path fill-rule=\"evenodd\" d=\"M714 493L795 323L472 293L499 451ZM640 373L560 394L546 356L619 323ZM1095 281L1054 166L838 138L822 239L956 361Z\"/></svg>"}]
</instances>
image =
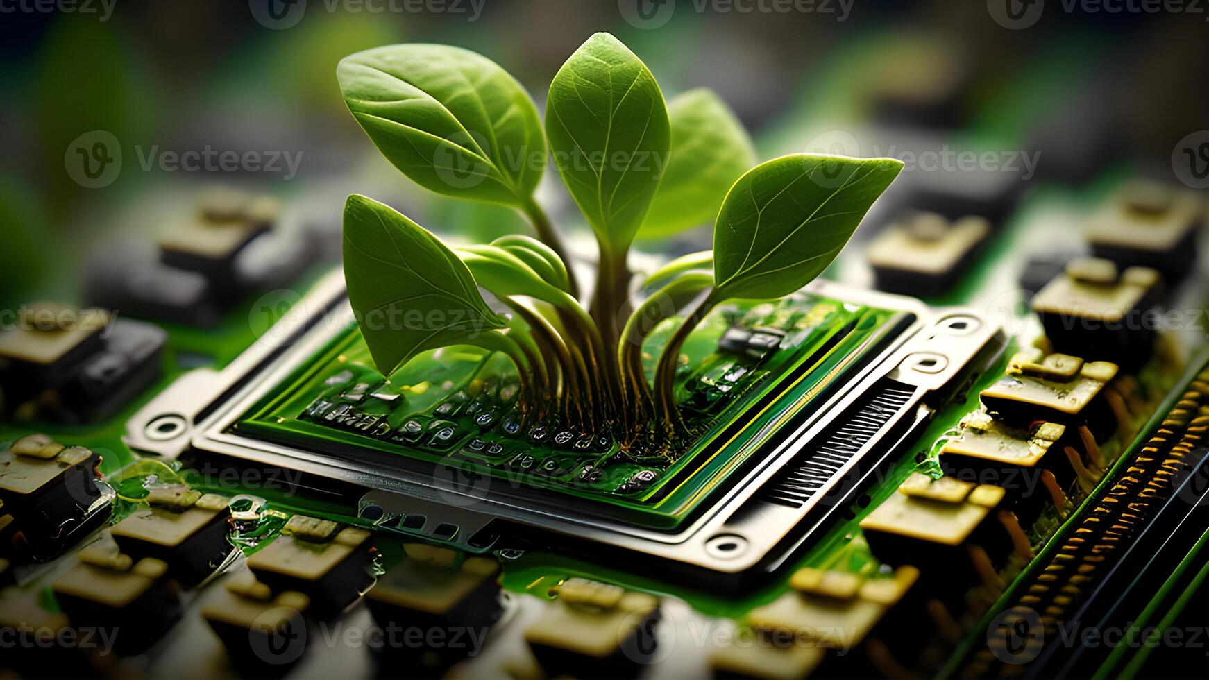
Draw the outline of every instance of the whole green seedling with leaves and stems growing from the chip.
<instances>
[{"instance_id":1,"label":"whole green seedling with leaves and stems growing from the chip","mask_svg":"<svg viewBox=\"0 0 1209 680\"><path fill-rule=\"evenodd\" d=\"M510 207L537 238L450 249L392 208L345 208L348 298L374 362L389 374L418 353L470 344L508 356L520 403L624 441L686 431L676 406L681 348L719 304L773 300L835 258L902 163L785 156L757 164L747 133L712 92L667 105L625 45L596 34L550 85L544 126L521 85L457 47L395 45L341 60L349 111L416 184ZM591 297L580 298L559 231L534 200L553 156L596 236ZM630 309L635 239L713 219L713 250L642 277ZM493 310L480 290L498 302ZM648 382L643 342L682 318ZM400 322L401 320L401 322Z\"/></svg>"}]
</instances>

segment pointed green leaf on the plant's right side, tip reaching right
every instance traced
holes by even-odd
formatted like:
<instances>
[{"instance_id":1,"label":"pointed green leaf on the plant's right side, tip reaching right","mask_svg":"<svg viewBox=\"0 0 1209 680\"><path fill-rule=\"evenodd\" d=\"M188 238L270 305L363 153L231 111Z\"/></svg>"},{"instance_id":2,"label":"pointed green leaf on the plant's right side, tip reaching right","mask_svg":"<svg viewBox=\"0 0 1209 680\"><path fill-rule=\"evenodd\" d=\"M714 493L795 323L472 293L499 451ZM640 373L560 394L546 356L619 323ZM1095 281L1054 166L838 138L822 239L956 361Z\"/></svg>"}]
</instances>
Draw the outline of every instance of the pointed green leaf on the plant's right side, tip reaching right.
<instances>
[{"instance_id":1,"label":"pointed green leaf on the plant's right side, tip reaching right","mask_svg":"<svg viewBox=\"0 0 1209 680\"><path fill-rule=\"evenodd\" d=\"M893 158L785 156L752 168L713 226L717 298L774 298L809 284L902 167Z\"/></svg>"}]
</instances>

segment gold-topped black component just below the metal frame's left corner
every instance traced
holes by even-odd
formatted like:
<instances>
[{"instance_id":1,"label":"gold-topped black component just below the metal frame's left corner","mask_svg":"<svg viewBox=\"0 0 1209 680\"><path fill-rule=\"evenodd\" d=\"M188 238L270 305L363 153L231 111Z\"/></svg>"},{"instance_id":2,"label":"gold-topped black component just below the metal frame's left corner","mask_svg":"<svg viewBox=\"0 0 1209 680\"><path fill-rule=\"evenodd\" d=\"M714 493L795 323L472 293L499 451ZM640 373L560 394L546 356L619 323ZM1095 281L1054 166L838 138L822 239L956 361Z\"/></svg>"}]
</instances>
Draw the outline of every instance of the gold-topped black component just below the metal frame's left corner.
<instances>
[{"instance_id":1,"label":"gold-topped black component just below the metal frame's left corner","mask_svg":"<svg viewBox=\"0 0 1209 680\"><path fill-rule=\"evenodd\" d=\"M235 550L227 540L231 510L226 496L163 487L152 489L146 500L149 507L127 515L110 534L134 559L162 559L183 587L204 581Z\"/></svg>"}]
</instances>

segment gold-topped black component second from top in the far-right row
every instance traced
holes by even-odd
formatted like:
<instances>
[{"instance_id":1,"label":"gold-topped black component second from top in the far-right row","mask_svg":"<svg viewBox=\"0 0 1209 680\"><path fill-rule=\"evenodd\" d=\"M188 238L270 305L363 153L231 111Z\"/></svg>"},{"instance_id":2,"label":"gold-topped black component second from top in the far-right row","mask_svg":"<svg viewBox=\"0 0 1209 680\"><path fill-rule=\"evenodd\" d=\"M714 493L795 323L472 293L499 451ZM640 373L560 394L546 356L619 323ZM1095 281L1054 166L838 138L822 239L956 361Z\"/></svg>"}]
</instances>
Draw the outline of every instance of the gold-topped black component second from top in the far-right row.
<instances>
[{"instance_id":1,"label":"gold-topped black component second from top in the far-right row","mask_svg":"<svg viewBox=\"0 0 1209 680\"><path fill-rule=\"evenodd\" d=\"M1133 371L1153 353L1161 287L1155 269L1118 273L1111 260L1080 258L1032 298L1032 310L1054 350Z\"/></svg>"}]
</instances>

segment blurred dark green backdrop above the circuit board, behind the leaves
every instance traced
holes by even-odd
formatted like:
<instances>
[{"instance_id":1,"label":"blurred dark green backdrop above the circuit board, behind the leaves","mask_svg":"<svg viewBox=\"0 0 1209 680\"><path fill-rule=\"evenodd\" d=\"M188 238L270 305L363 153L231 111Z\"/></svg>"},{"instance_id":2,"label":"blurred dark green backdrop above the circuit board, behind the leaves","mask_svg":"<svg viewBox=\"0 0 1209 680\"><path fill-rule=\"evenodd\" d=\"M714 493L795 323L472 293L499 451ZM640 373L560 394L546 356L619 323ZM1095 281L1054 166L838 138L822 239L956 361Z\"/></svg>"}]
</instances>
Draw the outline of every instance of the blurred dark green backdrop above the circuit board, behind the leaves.
<instances>
[{"instance_id":1,"label":"blurred dark green backdrop above the circuit board, behind the leaves","mask_svg":"<svg viewBox=\"0 0 1209 680\"><path fill-rule=\"evenodd\" d=\"M280 289L339 256L349 192L453 238L525 231L504 208L415 187L359 130L336 62L393 42L481 52L543 109L561 63L611 31L669 98L717 91L762 158L904 159L858 239L903 202L1003 222L1039 187L1070 203L1127 176L1203 188L1209 173L1209 14L1192 2L0 0L0 10L5 308L221 298L149 263L157 239L215 185L279 202L273 243L233 274L250 281L232 286L239 295ZM565 229L583 229L556 174L545 180L539 200ZM1057 220L1032 238L1064 242L1066 227ZM677 254L708 238L704 227L640 248ZM578 249L592 254L588 240ZM867 277L852 272L834 275ZM115 277L137 280L110 290ZM197 285L222 287L214 277ZM127 289L170 300L129 300ZM224 309L157 313L206 327Z\"/></svg>"}]
</instances>

